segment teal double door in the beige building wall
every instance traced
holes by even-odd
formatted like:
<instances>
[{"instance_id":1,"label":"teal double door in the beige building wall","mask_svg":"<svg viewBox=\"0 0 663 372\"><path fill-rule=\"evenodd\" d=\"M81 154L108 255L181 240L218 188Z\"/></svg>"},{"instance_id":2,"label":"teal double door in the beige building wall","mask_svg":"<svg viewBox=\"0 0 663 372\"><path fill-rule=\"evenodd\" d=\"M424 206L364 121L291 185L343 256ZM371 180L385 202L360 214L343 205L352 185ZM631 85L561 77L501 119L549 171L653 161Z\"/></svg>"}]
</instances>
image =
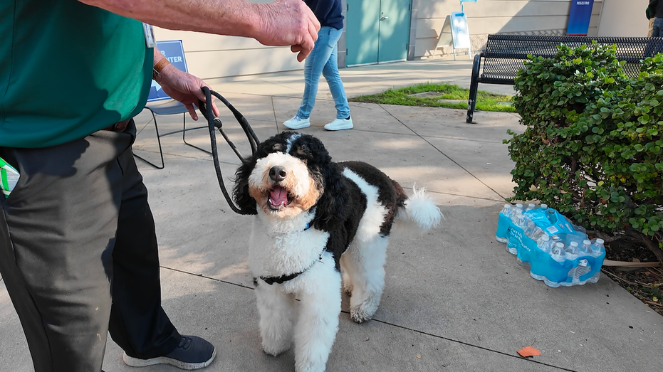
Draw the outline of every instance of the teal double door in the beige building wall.
<instances>
[{"instance_id":1,"label":"teal double door in the beige building wall","mask_svg":"<svg viewBox=\"0 0 663 372\"><path fill-rule=\"evenodd\" d=\"M348 0L346 65L407 59L412 0Z\"/></svg>"}]
</instances>

